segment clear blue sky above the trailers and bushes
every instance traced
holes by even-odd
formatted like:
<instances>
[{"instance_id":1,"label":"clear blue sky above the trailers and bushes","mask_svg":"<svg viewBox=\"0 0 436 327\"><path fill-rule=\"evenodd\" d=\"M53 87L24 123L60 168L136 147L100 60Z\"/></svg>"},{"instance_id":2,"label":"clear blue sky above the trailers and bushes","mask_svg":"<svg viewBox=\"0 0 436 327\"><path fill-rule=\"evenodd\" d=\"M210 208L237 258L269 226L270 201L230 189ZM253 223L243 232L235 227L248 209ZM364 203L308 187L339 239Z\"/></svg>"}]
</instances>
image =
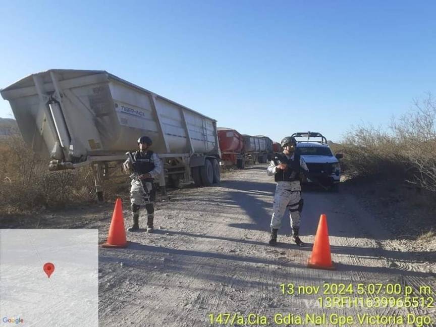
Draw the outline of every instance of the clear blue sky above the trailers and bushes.
<instances>
[{"instance_id":1,"label":"clear blue sky above the trailers and bushes","mask_svg":"<svg viewBox=\"0 0 436 327\"><path fill-rule=\"evenodd\" d=\"M106 70L273 140L387 127L436 93L436 2L0 1L0 88ZM0 117L12 118L0 100Z\"/></svg>"}]
</instances>

